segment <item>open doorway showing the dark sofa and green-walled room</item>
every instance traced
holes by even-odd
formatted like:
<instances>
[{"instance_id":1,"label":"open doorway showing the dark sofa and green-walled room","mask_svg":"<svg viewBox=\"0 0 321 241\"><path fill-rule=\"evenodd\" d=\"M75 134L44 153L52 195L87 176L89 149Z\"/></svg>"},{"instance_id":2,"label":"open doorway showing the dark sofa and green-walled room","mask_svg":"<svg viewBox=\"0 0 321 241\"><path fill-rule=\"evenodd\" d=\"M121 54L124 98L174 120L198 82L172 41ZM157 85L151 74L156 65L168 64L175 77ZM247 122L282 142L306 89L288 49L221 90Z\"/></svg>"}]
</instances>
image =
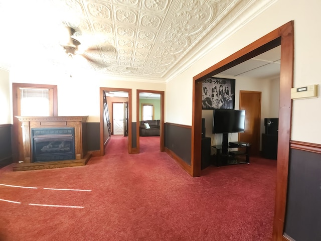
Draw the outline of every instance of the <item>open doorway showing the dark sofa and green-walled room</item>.
<instances>
[{"instance_id":1,"label":"open doorway showing the dark sofa and green-walled room","mask_svg":"<svg viewBox=\"0 0 321 241\"><path fill-rule=\"evenodd\" d=\"M148 127L149 124L154 126L154 130L145 129L144 122ZM137 89L136 124L137 153L140 152L140 141L148 137L159 139L159 150L164 152L164 91Z\"/></svg>"}]
</instances>

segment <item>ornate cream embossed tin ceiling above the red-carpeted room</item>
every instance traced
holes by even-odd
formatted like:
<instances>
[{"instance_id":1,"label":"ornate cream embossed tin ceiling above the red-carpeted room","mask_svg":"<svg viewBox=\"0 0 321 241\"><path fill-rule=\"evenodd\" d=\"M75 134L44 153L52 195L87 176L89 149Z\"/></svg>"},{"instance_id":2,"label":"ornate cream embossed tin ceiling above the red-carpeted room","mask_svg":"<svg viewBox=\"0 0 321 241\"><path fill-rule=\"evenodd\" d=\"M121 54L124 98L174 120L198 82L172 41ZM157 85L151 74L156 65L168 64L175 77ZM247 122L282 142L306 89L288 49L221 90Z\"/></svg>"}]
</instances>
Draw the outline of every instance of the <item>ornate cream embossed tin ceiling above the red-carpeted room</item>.
<instances>
[{"instance_id":1,"label":"ornate cream embossed tin ceiling above the red-carpeted room","mask_svg":"<svg viewBox=\"0 0 321 241\"><path fill-rule=\"evenodd\" d=\"M2 0L1 0L2 1ZM37 19L46 56L60 62L54 29L62 23L79 30L81 46L98 48L88 57L100 64L82 65L115 76L162 79L190 58L198 45L219 38L220 25L267 0L43 0L24 1L31 10L43 11ZM274 2L274 1L272 1ZM23 6L21 6L23 8ZM37 7L37 8L35 8ZM34 9L35 8L35 9ZM259 8L262 8L260 6ZM47 11L47 12L46 12ZM255 10L256 11L256 10ZM22 13L23 14L23 13ZM37 13L34 13L37 16ZM38 13L39 14L39 13ZM233 15L232 15L233 14ZM26 17L27 18L27 17ZM244 21L244 18L243 20ZM242 24L239 22L239 24ZM56 27L56 26L59 26ZM31 28L32 26L29 25ZM225 26L226 27L226 26ZM36 33L37 31L34 31ZM214 32L214 33L213 33ZM32 32L33 33L33 32ZM57 33L57 32L55 32ZM42 38L43 40L43 38ZM39 45L38 45L38 50ZM43 50L42 50L43 51ZM63 52L63 51L62 51ZM54 54L55 53L55 54ZM188 55L190 55L188 57Z\"/></svg>"}]
</instances>

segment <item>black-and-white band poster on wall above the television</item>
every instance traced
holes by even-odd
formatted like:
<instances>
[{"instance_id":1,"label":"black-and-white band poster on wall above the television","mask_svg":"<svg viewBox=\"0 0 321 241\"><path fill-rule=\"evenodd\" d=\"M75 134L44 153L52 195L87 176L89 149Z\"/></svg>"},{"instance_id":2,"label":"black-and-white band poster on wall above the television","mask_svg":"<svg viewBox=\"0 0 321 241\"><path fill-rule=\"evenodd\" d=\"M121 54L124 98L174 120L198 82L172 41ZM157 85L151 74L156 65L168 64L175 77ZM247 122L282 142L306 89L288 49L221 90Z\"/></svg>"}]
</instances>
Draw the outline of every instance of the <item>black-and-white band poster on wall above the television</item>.
<instances>
[{"instance_id":1,"label":"black-and-white band poster on wall above the television","mask_svg":"<svg viewBox=\"0 0 321 241\"><path fill-rule=\"evenodd\" d=\"M202 91L203 109L234 109L235 79L205 79Z\"/></svg>"}]
</instances>

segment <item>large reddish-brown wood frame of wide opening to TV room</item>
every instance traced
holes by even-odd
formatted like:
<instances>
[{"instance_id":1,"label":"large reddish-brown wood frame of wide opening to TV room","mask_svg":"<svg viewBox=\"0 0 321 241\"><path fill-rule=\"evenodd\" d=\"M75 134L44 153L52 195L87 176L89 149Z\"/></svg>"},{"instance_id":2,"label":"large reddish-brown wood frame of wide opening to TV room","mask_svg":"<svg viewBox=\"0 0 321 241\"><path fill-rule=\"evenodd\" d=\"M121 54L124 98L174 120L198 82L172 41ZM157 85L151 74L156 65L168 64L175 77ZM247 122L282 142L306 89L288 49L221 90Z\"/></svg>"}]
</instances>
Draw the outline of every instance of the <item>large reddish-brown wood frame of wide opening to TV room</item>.
<instances>
[{"instance_id":1,"label":"large reddish-brown wood frame of wide opening to TV room","mask_svg":"<svg viewBox=\"0 0 321 241\"><path fill-rule=\"evenodd\" d=\"M272 240L283 237L291 135L294 22L290 21L193 77L191 173L201 175L202 81L281 45L279 132Z\"/></svg>"}]
</instances>

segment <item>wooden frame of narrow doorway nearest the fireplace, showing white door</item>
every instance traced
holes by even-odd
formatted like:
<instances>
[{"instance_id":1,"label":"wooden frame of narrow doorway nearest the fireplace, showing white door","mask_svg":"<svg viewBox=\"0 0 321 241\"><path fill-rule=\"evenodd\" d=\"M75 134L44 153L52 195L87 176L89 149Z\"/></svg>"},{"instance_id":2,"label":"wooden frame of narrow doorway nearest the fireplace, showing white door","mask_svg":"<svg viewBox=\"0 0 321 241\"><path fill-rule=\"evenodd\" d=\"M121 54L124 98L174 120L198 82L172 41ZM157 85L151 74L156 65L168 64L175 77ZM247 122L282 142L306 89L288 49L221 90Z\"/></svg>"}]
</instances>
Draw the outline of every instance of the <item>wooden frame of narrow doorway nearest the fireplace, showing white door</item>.
<instances>
[{"instance_id":1,"label":"wooden frame of narrow doorway nearest the fireplace, showing white door","mask_svg":"<svg viewBox=\"0 0 321 241\"><path fill-rule=\"evenodd\" d=\"M105 91L119 91L119 92L128 92L128 153L132 153L132 141L131 141L131 89L122 89L122 88L99 88L99 99L100 99L100 156L105 155L104 151L104 92Z\"/></svg>"}]
</instances>

